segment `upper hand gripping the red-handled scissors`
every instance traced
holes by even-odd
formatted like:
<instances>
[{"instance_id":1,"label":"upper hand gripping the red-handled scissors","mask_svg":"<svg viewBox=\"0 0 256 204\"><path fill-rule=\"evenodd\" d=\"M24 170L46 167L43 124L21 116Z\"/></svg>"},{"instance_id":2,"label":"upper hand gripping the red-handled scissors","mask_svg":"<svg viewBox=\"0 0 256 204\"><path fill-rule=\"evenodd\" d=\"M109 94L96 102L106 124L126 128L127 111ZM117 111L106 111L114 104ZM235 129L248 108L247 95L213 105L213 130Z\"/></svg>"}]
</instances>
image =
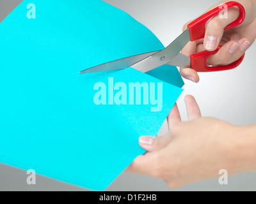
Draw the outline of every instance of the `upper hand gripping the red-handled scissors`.
<instances>
[{"instance_id":1,"label":"upper hand gripping the red-handled scissors","mask_svg":"<svg viewBox=\"0 0 256 204\"><path fill-rule=\"evenodd\" d=\"M209 57L207 64L218 66L237 61L256 38L256 0L236 1L241 3L246 11L246 17L241 25L224 32L224 28L239 17L238 8L229 8L228 18L220 18L219 15L216 15L209 20L206 25L204 39L193 42L190 41L182 50L182 54L189 56L203 50L213 51L218 48L218 45L223 45L218 53ZM221 1L221 3L227 2L228 1ZM219 5L220 4L216 4L209 10ZM190 22L184 25L183 31L187 29L187 25ZM180 68L180 75L193 82L199 81L198 74L191 68Z\"/></svg>"}]
</instances>

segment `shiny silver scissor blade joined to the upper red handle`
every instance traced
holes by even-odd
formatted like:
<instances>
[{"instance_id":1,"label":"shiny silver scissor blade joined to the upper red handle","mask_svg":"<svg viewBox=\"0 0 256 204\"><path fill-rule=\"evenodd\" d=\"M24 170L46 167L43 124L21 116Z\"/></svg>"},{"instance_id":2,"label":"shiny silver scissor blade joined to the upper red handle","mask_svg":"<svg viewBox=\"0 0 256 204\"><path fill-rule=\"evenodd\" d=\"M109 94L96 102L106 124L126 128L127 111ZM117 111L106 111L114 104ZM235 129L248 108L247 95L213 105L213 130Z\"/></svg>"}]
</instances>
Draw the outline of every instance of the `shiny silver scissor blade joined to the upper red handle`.
<instances>
[{"instance_id":1,"label":"shiny silver scissor blade joined to the upper red handle","mask_svg":"<svg viewBox=\"0 0 256 204\"><path fill-rule=\"evenodd\" d=\"M190 41L189 29L184 31L175 41L173 41L164 50L157 52L156 54L144 59L132 66L134 69L138 69L142 72L147 72L155 69L163 64L168 64L172 59L180 53L182 48Z\"/></svg>"}]
</instances>

